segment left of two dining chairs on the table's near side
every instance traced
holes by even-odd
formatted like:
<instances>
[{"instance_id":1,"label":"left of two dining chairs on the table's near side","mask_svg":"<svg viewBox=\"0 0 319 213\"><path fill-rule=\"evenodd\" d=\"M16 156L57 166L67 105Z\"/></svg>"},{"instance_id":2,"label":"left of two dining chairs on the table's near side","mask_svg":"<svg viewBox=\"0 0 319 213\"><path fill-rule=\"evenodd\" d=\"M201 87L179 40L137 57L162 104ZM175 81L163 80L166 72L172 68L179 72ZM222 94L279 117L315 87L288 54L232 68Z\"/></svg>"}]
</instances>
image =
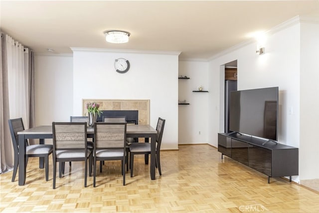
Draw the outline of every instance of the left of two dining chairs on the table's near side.
<instances>
[{"instance_id":1,"label":"left of two dining chairs on the table's near side","mask_svg":"<svg viewBox=\"0 0 319 213\"><path fill-rule=\"evenodd\" d=\"M87 143L87 122L52 122L53 189L56 181L56 163L84 161L84 187L87 186L87 167L92 174L92 149ZM88 162L89 161L89 162Z\"/></svg>"}]
</instances>

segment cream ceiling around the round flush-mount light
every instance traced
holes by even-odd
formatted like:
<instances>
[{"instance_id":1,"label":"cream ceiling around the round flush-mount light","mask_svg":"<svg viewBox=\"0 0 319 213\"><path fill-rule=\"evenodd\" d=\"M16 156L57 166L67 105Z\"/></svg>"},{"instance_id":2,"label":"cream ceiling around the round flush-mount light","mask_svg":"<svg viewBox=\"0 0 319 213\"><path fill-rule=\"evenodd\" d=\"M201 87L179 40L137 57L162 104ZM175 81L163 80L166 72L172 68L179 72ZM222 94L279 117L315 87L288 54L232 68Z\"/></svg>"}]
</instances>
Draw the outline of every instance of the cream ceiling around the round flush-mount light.
<instances>
[{"instance_id":1,"label":"cream ceiling around the round flush-mount light","mask_svg":"<svg viewBox=\"0 0 319 213\"><path fill-rule=\"evenodd\" d=\"M35 53L70 47L181 52L207 60L297 15L319 15L319 0L283 1L9 1L0 0L1 31ZM103 31L131 33L125 44Z\"/></svg>"}]
</instances>

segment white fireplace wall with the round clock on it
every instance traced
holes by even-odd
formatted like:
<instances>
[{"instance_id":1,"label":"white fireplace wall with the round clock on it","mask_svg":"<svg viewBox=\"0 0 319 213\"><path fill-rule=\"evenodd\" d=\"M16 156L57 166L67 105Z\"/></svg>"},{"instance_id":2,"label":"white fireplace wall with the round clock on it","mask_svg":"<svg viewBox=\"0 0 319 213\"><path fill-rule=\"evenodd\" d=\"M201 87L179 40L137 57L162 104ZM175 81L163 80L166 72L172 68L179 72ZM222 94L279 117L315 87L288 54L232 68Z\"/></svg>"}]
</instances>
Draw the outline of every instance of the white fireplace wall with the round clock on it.
<instances>
[{"instance_id":1,"label":"white fireplace wall with the round clock on it","mask_svg":"<svg viewBox=\"0 0 319 213\"><path fill-rule=\"evenodd\" d=\"M73 50L73 115L82 114L83 99L150 100L150 124L166 119L162 149L178 149L179 53ZM115 71L116 58L130 61L125 74Z\"/></svg>"}]
</instances>

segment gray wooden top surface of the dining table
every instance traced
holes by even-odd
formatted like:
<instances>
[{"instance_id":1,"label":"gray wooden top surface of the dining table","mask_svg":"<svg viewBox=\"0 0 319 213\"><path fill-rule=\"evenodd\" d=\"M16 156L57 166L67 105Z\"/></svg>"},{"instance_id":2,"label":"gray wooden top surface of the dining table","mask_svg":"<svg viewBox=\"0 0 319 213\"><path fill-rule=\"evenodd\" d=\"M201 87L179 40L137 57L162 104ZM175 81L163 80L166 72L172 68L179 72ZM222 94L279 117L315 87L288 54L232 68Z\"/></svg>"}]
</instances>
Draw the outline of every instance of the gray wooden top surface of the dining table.
<instances>
[{"instance_id":1,"label":"gray wooden top surface of the dining table","mask_svg":"<svg viewBox=\"0 0 319 213\"><path fill-rule=\"evenodd\" d=\"M152 134L157 133L157 131L151 125L127 125L127 133L146 133ZM87 133L94 133L94 127L88 127ZM52 134L52 126L36 126L33 128L18 131L17 134Z\"/></svg>"}]
</instances>

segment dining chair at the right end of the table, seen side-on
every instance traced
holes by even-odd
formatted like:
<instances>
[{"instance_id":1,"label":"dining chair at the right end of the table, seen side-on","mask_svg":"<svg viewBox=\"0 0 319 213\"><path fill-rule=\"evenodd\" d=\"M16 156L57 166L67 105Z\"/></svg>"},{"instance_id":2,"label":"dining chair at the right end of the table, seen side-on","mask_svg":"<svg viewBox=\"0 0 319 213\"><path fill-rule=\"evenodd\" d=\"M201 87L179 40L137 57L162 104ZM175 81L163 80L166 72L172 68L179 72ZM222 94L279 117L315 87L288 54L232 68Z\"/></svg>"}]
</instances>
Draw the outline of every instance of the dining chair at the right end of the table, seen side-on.
<instances>
[{"instance_id":1,"label":"dining chair at the right end of the table, seen side-on","mask_svg":"<svg viewBox=\"0 0 319 213\"><path fill-rule=\"evenodd\" d=\"M165 119L162 119L159 117L158 124L156 126L156 166L159 169L159 173L161 175L161 169L160 169L160 144L161 144L161 138L163 136L164 131L164 125L165 125ZM151 141L153 142L153 141ZM137 154L151 154L151 143L132 143L130 145L130 166L131 166L131 177L133 177L133 166L134 166L134 155Z\"/></svg>"}]
</instances>

